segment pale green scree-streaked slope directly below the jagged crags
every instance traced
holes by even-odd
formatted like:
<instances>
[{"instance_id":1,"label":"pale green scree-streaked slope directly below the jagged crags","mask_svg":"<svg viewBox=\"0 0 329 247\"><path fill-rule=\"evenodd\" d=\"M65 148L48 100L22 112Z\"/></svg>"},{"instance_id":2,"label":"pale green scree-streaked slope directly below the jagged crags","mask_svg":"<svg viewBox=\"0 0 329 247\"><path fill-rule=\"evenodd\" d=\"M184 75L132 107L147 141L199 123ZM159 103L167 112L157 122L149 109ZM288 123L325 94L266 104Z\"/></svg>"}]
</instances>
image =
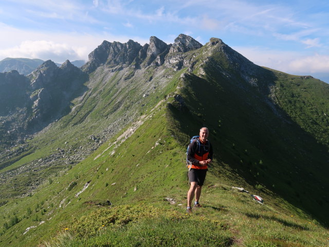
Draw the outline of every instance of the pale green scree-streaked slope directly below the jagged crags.
<instances>
[{"instance_id":1,"label":"pale green scree-streaked slope directly below the jagged crags","mask_svg":"<svg viewBox=\"0 0 329 247\"><path fill-rule=\"evenodd\" d=\"M0 173L9 174L0 184L0 191L3 191L0 201L20 197L33 181L40 184L47 181L49 175L81 161L99 146L90 136L98 136L100 140L113 136L118 129L150 111L174 86L163 82L163 77L175 74L170 69L157 71L157 68L150 67L147 73L136 73L130 80L125 79L127 74L131 74L130 68L111 72L100 67L90 75L86 83L89 90L72 102L72 111L68 115L53 122L33 140L27 140L26 151L19 158L13 156L0 162ZM148 81L149 74L153 75L152 81ZM143 97L145 94L148 96ZM53 162L38 165L41 158ZM23 167L23 172L16 174L20 167ZM36 172L31 175L31 170Z\"/></svg>"}]
</instances>

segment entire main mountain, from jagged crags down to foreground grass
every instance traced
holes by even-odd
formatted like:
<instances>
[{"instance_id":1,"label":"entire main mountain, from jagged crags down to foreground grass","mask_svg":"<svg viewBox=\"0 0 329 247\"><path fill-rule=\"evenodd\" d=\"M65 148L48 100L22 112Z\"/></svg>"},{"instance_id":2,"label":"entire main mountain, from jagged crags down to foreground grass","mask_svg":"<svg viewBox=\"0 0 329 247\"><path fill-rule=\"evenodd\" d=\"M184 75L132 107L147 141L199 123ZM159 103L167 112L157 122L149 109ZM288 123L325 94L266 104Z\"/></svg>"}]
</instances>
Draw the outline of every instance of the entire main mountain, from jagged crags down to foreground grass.
<instances>
[{"instance_id":1,"label":"entire main mountain, from jagged crags down to foreground grass","mask_svg":"<svg viewBox=\"0 0 329 247\"><path fill-rule=\"evenodd\" d=\"M184 34L172 45L104 41L82 70L88 80L69 113L2 163L0 243L327 244L327 125L318 116L326 116L326 84L298 82L309 93L289 104L301 88L293 84L306 78L257 66L220 39L202 46ZM215 160L204 208L188 216L186 145L202 126Z\"/></svg>"}]
</instances>

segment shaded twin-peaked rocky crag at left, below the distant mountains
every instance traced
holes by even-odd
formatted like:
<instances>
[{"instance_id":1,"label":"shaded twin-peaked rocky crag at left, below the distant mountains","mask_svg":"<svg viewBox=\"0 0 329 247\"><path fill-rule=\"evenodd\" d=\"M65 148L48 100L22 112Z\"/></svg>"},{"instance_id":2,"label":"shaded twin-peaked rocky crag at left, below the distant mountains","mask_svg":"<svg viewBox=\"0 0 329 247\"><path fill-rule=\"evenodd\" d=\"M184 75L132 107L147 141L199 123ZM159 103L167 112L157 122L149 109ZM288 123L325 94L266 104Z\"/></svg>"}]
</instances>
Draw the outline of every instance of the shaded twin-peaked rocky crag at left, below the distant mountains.
<instances>
[{"instance_id":1,"label":"shaded twin-peaked rocky crag at left, below the distant mountains","mask_svg":"<svg viewBox=\"0 0 329 247\"><path fill-rule=\"evenodd\" d=\"M33 100L28 126L34 131L67 113L70 100L83 90L87 80L87 76L68 60L60 68L48 60L28 77Z\"/></svg>"}]
</instances>

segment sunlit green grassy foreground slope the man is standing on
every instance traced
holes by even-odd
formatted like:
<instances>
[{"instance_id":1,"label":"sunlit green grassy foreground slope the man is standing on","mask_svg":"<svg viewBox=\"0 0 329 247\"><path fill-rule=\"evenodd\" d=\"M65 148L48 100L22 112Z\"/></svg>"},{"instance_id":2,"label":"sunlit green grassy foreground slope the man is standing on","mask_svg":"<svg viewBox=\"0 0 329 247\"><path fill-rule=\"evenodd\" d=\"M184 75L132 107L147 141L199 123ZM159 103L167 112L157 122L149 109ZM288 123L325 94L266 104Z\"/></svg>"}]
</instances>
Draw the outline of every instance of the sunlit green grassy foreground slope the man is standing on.
<instances>
[{"instance_id":1,"label":"sunlit green grassy foreground slope the man is standing on","mask_svg":"<svg viewBox=\"0 0 329 247\"><path fill-rule=\"evenodd\" d=\"M32 197L3 206L2 213L11 218L16 216L20 222L8 228L1 243L11 246L326 244L326 230L316 220L302 212L299 215L293 205L288 209L284 205L289 204L279 198L266 198L265 205L252 201L249 195L232 190L233 181L218 177L215 168L210 169L204 186L204 207L194 210L192 216L186 215L188 183L186 167L181 161L185 147L174 138L182 133L176 128L170 108L163 102L150 115L139 119L143 124L130 137L125 138L128 132L121 131L86 160L61 176L52 177L51 184L44 185ZM133 128L134 125L127 130ZM214 161L214 166L234 177L219 160ZM88 187L76 197L86 184ZM171 205L166 198L174 199L176 204ZM113 205L108 206L107 200ZM6 221L10 223L11 218ZM24 234L31 226L35 227Z\"/></svg>"}]
</instances>

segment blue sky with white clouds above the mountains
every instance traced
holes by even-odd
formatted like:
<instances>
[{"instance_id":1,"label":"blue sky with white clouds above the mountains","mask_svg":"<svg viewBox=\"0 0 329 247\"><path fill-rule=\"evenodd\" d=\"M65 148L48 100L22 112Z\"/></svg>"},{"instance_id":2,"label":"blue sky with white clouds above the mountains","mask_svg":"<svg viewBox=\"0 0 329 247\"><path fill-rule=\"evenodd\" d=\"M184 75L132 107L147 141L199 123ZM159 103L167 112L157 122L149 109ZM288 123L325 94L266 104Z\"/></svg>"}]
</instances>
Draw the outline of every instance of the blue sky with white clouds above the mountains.
<instances>
[{"instance_id":1,"label":"blue sky with white clouds above the mountains","mask_svg":"<svg viewBox=\"0 0 329 247\"><path fill-rule=\"evenodd\" d=\"M103 40L220 38L255 64L329 83L328 1L2 0L0 60L87 60Z\"/></svg>"}]
</instances>

